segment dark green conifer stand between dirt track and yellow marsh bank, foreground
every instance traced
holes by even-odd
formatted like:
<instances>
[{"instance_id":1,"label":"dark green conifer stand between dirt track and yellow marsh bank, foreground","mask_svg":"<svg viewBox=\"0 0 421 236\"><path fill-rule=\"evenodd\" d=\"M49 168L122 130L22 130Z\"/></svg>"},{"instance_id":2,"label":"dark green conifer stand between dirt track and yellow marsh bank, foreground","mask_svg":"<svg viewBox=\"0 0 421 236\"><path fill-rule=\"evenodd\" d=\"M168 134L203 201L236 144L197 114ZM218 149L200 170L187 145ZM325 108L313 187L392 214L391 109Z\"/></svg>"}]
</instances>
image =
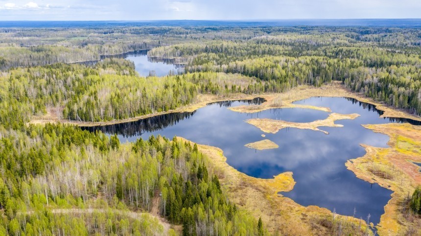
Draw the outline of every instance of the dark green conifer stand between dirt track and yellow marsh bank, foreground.
<instances>
[{"instance_id":1,"label":"dark green conifer stand between dirt track and yellow marsh bank, foreground","mask_svg":"<svg viewBox=\"0 0 421 236\"><path fill-rule=\"evenodd\" d=\"M166 164L159 168L160 213L173 223L182 223L184 235L258 235L256 219L229 202L196 144L151 136L147 142L138 140L132 149L147 151L148 146L158 147L158 159Z\"/></svg>"}]
</instances>

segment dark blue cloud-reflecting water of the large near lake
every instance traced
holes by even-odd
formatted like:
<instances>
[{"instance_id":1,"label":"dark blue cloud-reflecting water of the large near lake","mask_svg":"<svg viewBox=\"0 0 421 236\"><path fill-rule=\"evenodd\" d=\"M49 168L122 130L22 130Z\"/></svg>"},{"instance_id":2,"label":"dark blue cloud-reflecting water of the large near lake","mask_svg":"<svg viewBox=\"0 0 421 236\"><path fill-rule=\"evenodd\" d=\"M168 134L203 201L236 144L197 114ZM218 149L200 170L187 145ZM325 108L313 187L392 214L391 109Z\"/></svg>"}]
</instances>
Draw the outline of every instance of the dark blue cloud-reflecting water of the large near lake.
<instances>
[{"instance_id":1,"label":"dark blue cloud-reflecting water of the large near lake","mask_svg":"<svg viewBox=\"0 0 421 236\"><path fill-rule=\"evenodd\" d=\"M261 101L254 101L255 103ZM382 112L374 106L346 98L310 98L297 102L322 107L330 107L332 112L361 116L354 120L336 121L342 128L320 127L329 132L305 129L281 129L276 134L265 133L249 125L244 120L251 118L270 118L291 122L311 122L325 119L328 112L303 109L270 109L258 113L238 113L227 109L231 106L248 105L251 102L222 102L208 105L195 112L173 113L103 127L85 128L102 130L107 134L117 133L122 142L135 141L139 137L147 139L150 135L168 138L181 136L193 142L221 148L227 162L240 172L259 178L272 178L281 172L293 172L297 182L294 189L281 193L297 203L308 206L317 205L338 214L352 215L377 224L390 194L377 184L358 179L347 170L347 160L365 154L360 144L374 147L387 147L387 135L374 133L362 124L383 124L405 122L402 119L379 118ZM245 144L269 139L277 143L279 149L253 150Z\"/></svg>"}]
</instances>

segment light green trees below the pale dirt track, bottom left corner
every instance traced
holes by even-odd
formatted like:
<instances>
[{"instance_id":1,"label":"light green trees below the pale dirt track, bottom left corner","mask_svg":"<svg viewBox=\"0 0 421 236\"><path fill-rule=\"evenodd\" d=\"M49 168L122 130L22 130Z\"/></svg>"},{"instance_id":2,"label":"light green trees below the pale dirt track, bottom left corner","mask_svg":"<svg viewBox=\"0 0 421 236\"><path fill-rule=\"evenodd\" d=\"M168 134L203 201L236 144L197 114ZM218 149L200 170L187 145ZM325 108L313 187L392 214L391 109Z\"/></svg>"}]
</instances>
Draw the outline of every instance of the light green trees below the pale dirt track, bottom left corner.
<instances>
[{"instance_id":1,"label":"light green trees below the pale dirt track, bottom left corner","mask_svg":"<svg viewBox=\"0 0 421 236\"><path fill-rule=\"evenodd\" d=\"M149 214L136 219L127 211L114 209L64 209L63 213L54 210L35 211L8 220L2 218L0 227L3 235L162 235L163 226ZM3 230L2 230L3 229Z\"/></svg>"}]
</instances>

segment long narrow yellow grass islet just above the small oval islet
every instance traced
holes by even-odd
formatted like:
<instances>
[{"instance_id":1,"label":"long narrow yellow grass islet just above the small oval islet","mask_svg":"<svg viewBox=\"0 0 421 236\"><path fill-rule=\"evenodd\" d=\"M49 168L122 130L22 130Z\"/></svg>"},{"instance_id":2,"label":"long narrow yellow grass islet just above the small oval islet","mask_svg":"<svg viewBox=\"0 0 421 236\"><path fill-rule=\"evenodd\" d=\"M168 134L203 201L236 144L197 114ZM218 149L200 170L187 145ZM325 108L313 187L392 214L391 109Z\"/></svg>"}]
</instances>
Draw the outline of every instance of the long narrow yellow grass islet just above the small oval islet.
<instances>
[{"instance_id":1,"label":"long narrow yellow grass islet just above the small oval islet","mask_svg":"<svg viewBox=\"0 0 421 236\"><path fill-rule=\"evenodd\" d=\"M335 124L335 121L344 120L344 119L355 119L358 116L359 114L343 115L343 114L338 114L338 113L331 113L324 120L316 120L309 123L296 123L296 122L288 122L288 121L281 121L281 120L258 119L258 118L246 120L246 122L251 125L256 126L257 128L261 129L263 132L266 132L266 133L277 133L280 129L284 129L284 128L297 128L297 129L312 129L316 131L322 131L328 134L327 131L321 130L318 127L321 127L321 126L343 127L343 125Z\"/></svg>"}]
</instances>

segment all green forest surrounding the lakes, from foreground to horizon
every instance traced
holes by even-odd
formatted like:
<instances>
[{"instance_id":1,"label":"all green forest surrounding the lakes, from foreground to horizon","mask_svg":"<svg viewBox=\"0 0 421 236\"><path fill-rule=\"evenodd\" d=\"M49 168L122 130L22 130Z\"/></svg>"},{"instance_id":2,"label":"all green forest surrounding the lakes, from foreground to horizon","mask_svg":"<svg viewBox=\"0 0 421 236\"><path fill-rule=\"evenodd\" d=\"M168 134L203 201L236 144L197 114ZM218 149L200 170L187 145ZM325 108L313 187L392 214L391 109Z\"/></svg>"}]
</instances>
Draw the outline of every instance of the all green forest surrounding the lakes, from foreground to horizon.
<instances>
[{"instance_id":1,"label":"all green forest surrounding the lakes, from foreground to horizon","mask_svg":"<svg viewBox=\"0 0 421 236\"><path fill-rule=\"evenodd\" d=\"M410 27L0 28L0 234L268 235L230 201L197 145L161 136L120 143L60 122L119 121L205 95L332 81L419 116L420 45L421 30ZM184 73L141 77L133 62L104 58L141 49L186 62ZM47 113L59 122L30 124ZM415 214L420 193L408 203Z\"/></svg>"}]
</instances>

